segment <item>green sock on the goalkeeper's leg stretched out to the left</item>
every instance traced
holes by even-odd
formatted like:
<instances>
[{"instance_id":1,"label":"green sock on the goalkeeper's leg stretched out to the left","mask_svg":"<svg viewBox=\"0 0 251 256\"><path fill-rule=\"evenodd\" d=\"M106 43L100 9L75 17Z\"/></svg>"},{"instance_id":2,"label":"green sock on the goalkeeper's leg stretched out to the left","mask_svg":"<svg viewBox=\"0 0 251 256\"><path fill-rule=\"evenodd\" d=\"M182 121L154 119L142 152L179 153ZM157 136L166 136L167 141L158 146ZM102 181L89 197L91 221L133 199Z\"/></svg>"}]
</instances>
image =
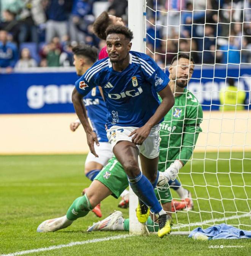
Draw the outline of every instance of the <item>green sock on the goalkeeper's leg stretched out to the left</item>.
<instances>
[{"instance_id":1,"label":"green sock on the goalkeeper's leg stretched out to the left","mask_svg":"<svg viewBox=\"0 0 251 256\"><path fill-rule=\"evenodd\" d=\"M86 194L75 199L73 204L67 211L66 217L71 221L75 221L80 217L84 217L92 210L92 206Z\"/></svg>"}]
</instances>

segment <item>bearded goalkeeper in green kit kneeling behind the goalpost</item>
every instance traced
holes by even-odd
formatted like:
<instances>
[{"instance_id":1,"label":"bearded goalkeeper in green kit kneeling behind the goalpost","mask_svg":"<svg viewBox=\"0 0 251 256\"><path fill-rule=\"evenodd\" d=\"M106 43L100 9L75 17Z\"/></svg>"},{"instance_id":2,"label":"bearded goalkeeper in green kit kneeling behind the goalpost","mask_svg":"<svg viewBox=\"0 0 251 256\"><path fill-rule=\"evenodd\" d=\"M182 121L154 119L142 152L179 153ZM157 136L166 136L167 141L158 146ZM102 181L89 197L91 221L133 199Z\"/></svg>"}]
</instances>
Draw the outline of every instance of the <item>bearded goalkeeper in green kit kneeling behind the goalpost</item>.
<instances>
[{"instance_id":1,"label":"bearded goalkeeper in green kit kneeling behind the goalpost","mask_svg":"<svg viewBox=\"0 0 251 256\"><path fill-rule=\"evenodd\" d=\"M193 61L190 60L190 62ZM189 64L190 68L188 68ZM179 54L178 61L177 57L172 60L169 68L169 78L174 81L170 84L170 87L175 94L175 104L165 115L164 121L160 124L161 142L158 169L162 172L162 175L161 173L160 175L167 176L168 183L171 186L175 185L176 188L180 189L178 192L183 194L185 194L187 190L182 188L178 180L176 180L176 176L178 170L182 168L192 156L199 133L202 132L200 128L203 117L202 107L194 94L184 88L187 85L187 81L192 76L193 66L193 64L189 63L189 56L186 54ZM186 73L186 68L189 73ZM177 79L176 77L184 78L184 80ZM113 191L113 195L116 198L118 198L119 193L123 191L123 185L127 185L120 181L121 178L126 178L126 175L123 177L124 174L121 168L121 165L113 158L96 177ZM116 178L113 179L113 175L116 175ZM163 208L170 211L172 197L169 188L157 188L155 192ZM189 202L190 201L187 200L184 202L184 205L189 204ZM103 225L104 223L106 224ZM147 226L149 231L158 230L158 226L154 225L150 217L148 218ZM115 211L112 215L108 216L103 221L95 223L88 229L88 231L96 230L129 231L129 219L124 219L121 211Z\"/></svg>"}]
</instances>

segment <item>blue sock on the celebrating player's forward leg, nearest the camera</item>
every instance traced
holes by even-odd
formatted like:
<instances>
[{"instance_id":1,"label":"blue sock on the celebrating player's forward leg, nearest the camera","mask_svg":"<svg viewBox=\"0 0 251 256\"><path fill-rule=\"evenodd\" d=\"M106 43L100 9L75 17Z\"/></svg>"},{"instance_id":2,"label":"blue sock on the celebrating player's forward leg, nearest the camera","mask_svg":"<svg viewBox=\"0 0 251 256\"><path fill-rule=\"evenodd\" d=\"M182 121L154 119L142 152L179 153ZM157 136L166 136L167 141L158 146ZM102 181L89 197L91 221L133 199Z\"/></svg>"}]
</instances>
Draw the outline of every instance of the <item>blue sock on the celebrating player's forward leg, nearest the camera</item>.
<instances>
[{"instance_id":1,"label":"blue sock on the celebrating player's forward leg, nearest the camera","mask_svg":"<svg viewBox=\"0 0 251 256\"><path fill-rule=\"evenodd\" d=\"M151 208L153 213L159 213L162 207L154 193L151 182L140 173L136 177L128 177L130 186L138 198Z\"/></svg>"}]
</instances>

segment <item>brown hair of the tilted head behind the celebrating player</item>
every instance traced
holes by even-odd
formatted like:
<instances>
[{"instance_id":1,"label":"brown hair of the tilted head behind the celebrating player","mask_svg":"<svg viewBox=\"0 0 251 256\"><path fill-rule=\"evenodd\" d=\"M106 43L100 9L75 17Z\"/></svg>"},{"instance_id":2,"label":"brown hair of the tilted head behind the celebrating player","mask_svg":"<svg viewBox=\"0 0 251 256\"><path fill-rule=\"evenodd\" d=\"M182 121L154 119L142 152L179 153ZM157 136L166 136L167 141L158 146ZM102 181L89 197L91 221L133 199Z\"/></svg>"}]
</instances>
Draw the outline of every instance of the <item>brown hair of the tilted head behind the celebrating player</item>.
<instances>
[{"instance_id":1,"label":"brown hair of the tilted head behind the celebrating player","mask_svg":"<svg viewBox=\"0 0 251 256\"><path fill-rule=\"evenodd\" d=\"M103 13L101 13L93 23L94 34L98 38L105 40L106 39L105 30L111 24L112 24L112 21L110 20L110 17L107 11L103 11Z\"/></svg>"}]
</instances>

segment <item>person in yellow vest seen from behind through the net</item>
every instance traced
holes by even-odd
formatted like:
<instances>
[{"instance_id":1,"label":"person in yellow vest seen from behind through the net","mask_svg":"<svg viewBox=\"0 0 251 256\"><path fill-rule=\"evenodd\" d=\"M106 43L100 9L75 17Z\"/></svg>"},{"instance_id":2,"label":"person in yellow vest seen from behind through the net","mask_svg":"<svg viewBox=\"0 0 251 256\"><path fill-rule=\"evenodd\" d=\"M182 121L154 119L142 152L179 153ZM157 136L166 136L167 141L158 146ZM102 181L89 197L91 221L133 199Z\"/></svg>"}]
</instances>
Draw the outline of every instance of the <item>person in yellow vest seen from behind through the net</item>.
<instances>
[{"instance_id":1,"label":"person in yellow vest seen from behind through the net","mask_svg":"<svg viewBox=\"0 0 251 256\"><path fill-rule=\"evenodd\" d=\"M238 90L238 88L235 86L235 81L233 78L228 78L227 82L228 85L226 88L221 89L219 92L219 100L221 104L219 110L243 110L246 93Z\"/></svg>"}]
</instances>

